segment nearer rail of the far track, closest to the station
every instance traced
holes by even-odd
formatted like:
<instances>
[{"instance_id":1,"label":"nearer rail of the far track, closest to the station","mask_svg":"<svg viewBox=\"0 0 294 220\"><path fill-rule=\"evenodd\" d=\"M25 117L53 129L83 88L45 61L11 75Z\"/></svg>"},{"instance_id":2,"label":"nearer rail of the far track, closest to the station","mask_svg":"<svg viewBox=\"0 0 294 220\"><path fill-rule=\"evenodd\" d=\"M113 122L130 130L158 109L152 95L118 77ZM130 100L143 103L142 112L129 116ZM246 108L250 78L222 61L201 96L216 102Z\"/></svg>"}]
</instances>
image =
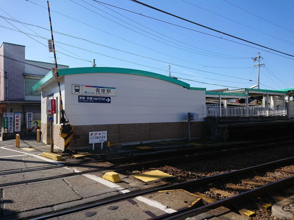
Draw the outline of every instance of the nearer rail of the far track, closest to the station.
<instances>
[{"instance_id":1,"label":"nearer rail of the far track, closest to the station","mask_svg":"<svg viewBox=\"0 0 294 220\"><path fill-rule=\"evenodd\" d=\"M287 141L287 143L293 143L294 141ZM152 166L160 166L162 164L172 164L172 163L178 163L180 161L187 161L189 158L193 159L206 159L211 157L220 157L220 156L226 156L230 154L239 154L243 152L249 152L254 149L260 150L260 148L271 148L275 147L277 145L280 145L281 143L275 143L271 145L263 145L263 146L252 146L248 148L239 148L239 149L231 149L229 151L220 151L220 152L213 152L208 154L194 154L194 155L185 155L180 157L172 157L172 158L166 158L166 159L159 159L159 160L153 160L153 161L147 161L137 164L129 164L129 165L119 165L119 166L110 166L110 167L103 167L99 169L89 170L89 171L83 171L79 173L70 173L70 174L63 174L58 176L49 176L49 177L43 177L43 178L37 178L37 179L29 179L29 180L23 180L18 182L9 182L9 183L3 183L0 184L0 188L7 187L7 186L14 186L14 185L20 185L20 184L26 184L26 183L32 183L32 182L40 182L45 180L51 180L51 179L58 179L58 178L65 178L68 176L78 176L83 174L89 174L89 173L96 173L104 170L136 170L139 168L147 168Z\"/></svg>"}]
</instances>

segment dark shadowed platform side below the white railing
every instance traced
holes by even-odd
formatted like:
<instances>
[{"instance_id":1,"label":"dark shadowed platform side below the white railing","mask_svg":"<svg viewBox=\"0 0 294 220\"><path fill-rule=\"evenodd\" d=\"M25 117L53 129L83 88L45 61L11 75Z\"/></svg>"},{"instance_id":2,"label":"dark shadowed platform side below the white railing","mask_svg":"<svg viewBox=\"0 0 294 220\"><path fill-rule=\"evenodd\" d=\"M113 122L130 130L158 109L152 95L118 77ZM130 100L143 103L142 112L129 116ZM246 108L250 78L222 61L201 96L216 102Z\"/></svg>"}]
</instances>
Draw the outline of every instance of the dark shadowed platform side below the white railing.
<instances>
[{"instance_id":1,"label":"dark shadowed platform side below the white railing","mask_svg":"<svg viewBox=\"0 0 294 220\"><path fill-rule=\"evenodd\" d=\"M206 137L220 141L255 140L259 137L292 135L294 120L274 117L207 117Z\"/></svg>"}]
</instances>

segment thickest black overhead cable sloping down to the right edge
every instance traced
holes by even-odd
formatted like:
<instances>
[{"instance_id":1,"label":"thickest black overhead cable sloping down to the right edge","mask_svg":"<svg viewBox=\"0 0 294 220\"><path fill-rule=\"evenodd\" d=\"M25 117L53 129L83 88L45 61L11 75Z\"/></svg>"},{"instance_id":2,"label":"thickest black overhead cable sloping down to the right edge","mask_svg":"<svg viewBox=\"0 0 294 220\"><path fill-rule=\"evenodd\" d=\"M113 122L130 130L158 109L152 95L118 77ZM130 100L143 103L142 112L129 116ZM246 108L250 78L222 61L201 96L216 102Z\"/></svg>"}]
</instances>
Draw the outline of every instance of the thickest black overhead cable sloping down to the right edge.
<instances>
[{"instance_id":1,"label":"thickest black overhead cable sloping down to the right edge","mask_svg":"<svg viewBox=\"0 0 294 220\"><path fill-rule=\"evenodd\" d=\"M231 34L225 33L225 32L223 32L223 31L220 31L220 30L217 30L217 29L214 29L214 28L211 28L211 27L208 27L208 26L202 25L202 24L200 24L200 23L196 23L196 22L189 21L189 20L187 20L187 19L185 19L185 18L182 18L182 17L177 16L177 15L174 15L174 14L172 14L172 13L169 13L169 12L163 11L163 10L161 10L161 9L159 9L159 8L155 8L155 7L151 6L151 5L148 5L148 4L143 3L143 2L141 2L141 1L138 1L138 0L131 0L131 1L134 1L134 2L136 2L136 3L138 3L138 4L141 4L141 5L144 5L144 6L148 7L148 8L153 9L153 10L156 10L156 11L162 12L162 13L164 13L164 14L170 15L170 16L172 16L172 17L175 17L175 18L181 19L181 20L183 20L183 21L190 22L190 23L196 24L196 25L198 25L198 26L204 27L204 28L206 28L206 29L209 29L209 30L212 30L212 31L218 32L218 33L220 33L220 34L227 35L227 36L229 36L229 37L236 38L236 39L238 39L238 40L241 40L241 41L247 42L247 43L249 43L249 44L254 44L254 45L257 45L257 46L260 46L260 47L263 47L263 48L266 48L266 49L269 49L269 50L272 50L272 51L275 51L275 52L278 52L278 53L281 53L281 54L284 54L284 55L287 55L287 56L294 57L294 55L291 55L291 54L288 54L288 53L285 53L285 52L282 52L282 51L279 51L279 50L276 50L276 49L270 48L269 46L264 46L264 45L261 45L261 44L256 44L256 43L254 43L254 42L247 41L247 40L245 40L245 39L243 39L243 38L239 38L239 37L236 37L236 36L234 36L234 35L231 35Z\"/></svg>"}]
</instances>

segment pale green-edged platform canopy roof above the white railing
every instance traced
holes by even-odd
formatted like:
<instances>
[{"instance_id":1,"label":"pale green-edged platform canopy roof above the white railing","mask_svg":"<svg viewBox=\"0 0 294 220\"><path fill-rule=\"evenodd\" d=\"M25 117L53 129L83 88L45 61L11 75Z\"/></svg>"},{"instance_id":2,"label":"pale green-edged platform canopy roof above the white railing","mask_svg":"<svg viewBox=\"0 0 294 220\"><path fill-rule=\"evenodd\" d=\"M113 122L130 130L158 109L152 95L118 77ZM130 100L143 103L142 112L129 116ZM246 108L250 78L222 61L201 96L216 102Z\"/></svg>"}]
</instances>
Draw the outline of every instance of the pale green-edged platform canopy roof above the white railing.
<instances>
[{"instance_id":1,"label":"pale green-edged platform canopy roof above the white railing","mask_svg":"<svg viewBox=\"0 0 294 220\"><path fill-rule=\"evenodd\" d=\"M281 90L268 90L268 89L257 89L257 88L241 88L241 89L234 89L234 90L228 90L224 91L223 93L243 93L248 94L248 96L262 96L262 95L269 95L269 96L275 96L275 95L284 95L287 93L287 91L281 91Z\"/></svg>"}]
</instances>

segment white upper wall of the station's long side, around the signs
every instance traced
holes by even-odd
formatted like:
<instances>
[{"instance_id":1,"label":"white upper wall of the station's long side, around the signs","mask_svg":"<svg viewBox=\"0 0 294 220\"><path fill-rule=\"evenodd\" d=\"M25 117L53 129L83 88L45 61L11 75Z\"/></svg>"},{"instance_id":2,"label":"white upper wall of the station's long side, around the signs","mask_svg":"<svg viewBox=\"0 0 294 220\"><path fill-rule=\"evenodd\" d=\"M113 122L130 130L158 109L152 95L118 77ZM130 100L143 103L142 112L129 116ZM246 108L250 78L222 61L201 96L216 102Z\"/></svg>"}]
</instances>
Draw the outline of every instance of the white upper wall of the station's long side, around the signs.
<instances>
[{"instance_id":1,"label":"white upper wall of the station's long side, around the signs","mask_svg":"<svg viewBox=\"0 0 294 220\"><path fill-rule=\"evenodd\" d=\"M111 103L79 103L72 85L114 87ZM205 91L190 90L164 80L119 73L65 76L65 111L73 125L187 121L188 112L205 117Z\"/></svg>"}]
</instances>

